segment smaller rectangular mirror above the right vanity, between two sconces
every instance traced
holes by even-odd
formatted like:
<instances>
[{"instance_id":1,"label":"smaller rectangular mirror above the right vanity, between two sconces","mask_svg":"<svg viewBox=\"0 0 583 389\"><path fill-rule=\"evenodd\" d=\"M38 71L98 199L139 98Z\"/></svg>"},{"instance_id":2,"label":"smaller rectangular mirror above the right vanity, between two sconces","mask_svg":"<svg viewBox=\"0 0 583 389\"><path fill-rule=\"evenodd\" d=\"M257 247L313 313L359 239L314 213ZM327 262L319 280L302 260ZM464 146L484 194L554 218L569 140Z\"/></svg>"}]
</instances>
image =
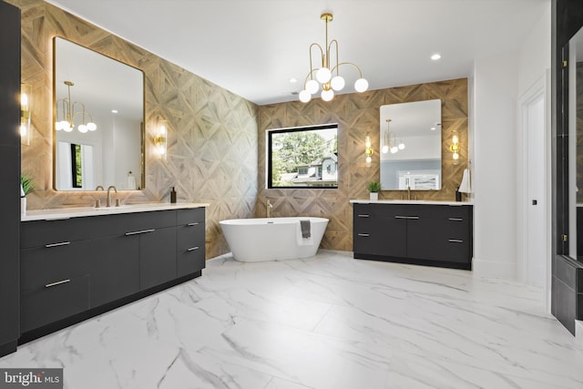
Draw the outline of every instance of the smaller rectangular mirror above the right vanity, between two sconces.
<instances>
[{"instance_id":1,"label":"smaller rectangular mirror above the right vanity, between two sconces","mask_svg":"<svg viewBox=\"0 0 583 389\"><path fill-rule=\"evenodd\" d=\"M380 111L381 189L441 189L441 100L390 104Z\"/></svg>"}]
</instances>

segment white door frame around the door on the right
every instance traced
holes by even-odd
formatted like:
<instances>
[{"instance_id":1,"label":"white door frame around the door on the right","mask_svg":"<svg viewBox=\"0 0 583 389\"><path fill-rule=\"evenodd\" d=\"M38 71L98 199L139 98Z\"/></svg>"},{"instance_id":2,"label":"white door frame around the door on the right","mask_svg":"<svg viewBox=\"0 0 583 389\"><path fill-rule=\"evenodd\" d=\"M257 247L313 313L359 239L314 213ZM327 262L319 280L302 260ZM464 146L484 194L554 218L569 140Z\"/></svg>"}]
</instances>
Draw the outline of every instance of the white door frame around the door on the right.
<instances>
[{"instance_id":1,"label":"white door frame around the door on the right","mask_svg":"<svg viewBox=\"0 0 583 389\"><path fill-rule=\"evenodd\" d=\"M551 242L552 242L552 204L551 204L551 166L550 166L550 147L551 147L551 90L550 90L550 70L547 69L545 74L528 87L527 91L517 99L517 275L520 282L527 282L528 259L527 259L527 211L530 207L526 199L528 188L528 175L535 173L529 172L527 166L527 115L528 105L539 97L543 97L545 105L545 125L543 145L545 149L544 166L542 180L545 187L542 203L545 206L545 236L544 257L545 257L545 285L544 285L544 304L547 312L550 313L551 302ZM536 172L540 174L541 172Z\"/></svg>"}]
</instances>

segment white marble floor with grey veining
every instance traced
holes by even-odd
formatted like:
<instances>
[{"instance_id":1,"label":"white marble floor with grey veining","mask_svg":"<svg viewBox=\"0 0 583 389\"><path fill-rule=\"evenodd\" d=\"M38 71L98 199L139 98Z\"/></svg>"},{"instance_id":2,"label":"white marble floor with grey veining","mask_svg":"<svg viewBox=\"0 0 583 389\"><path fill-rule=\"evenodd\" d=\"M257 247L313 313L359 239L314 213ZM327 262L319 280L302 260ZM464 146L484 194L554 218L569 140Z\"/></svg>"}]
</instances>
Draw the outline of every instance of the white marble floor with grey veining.
<instances>
[{"instance_id":1,"label":"white marble floor with grey veining","mask_svg":"<svg viewBox=\"0 0 583 389\"><path fill-rule=\"evenodd\" d=\"M582 388L583 350L543 291L353 260L207 261L196 280L0 358L77 388Z\"/></svg>"}]
</instances>

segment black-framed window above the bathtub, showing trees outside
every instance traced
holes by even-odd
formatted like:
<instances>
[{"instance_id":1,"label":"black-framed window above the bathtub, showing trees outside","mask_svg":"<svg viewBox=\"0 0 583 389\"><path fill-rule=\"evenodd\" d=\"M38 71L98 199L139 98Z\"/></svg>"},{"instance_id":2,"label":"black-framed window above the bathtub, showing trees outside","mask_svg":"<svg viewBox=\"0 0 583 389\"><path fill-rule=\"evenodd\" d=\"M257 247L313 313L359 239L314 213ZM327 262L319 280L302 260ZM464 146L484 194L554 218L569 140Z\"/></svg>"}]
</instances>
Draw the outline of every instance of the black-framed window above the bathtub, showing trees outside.
<instances>
[{"instance_id":1,"label":"black-framed window above the bathtub, showing trees outside","mask_svg":"<svg viewBox=\"0 0 583 389\"><path fill-rule=\"evenodd\" d=\"M338 188L338 125L267 133L267 188Z\"/></svg>"}]
</instances>

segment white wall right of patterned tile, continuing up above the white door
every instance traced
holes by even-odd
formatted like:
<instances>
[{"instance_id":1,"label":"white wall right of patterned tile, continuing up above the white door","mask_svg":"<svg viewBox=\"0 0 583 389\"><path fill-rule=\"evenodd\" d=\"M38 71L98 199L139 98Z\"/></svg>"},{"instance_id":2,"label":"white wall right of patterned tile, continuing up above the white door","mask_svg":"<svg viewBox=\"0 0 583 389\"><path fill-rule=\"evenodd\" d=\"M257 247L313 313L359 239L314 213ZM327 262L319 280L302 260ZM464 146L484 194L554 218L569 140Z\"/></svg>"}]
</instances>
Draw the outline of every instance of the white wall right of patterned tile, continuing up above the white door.
<instances>
[{"instance_id":1,"label":"white wall right of patterned tile, continuing up above the white door","mask_svg":"<svg viewBox=\"0 0 583 389\"><path fill-rule=\"evenodd\" d=\"M475 202L474 273L517 278L517 99L551 64L550 2L519 50L475 62L470 77L469 155ZM550 117L550 112L547 112Z\"/></svg>"}]
</instances>

